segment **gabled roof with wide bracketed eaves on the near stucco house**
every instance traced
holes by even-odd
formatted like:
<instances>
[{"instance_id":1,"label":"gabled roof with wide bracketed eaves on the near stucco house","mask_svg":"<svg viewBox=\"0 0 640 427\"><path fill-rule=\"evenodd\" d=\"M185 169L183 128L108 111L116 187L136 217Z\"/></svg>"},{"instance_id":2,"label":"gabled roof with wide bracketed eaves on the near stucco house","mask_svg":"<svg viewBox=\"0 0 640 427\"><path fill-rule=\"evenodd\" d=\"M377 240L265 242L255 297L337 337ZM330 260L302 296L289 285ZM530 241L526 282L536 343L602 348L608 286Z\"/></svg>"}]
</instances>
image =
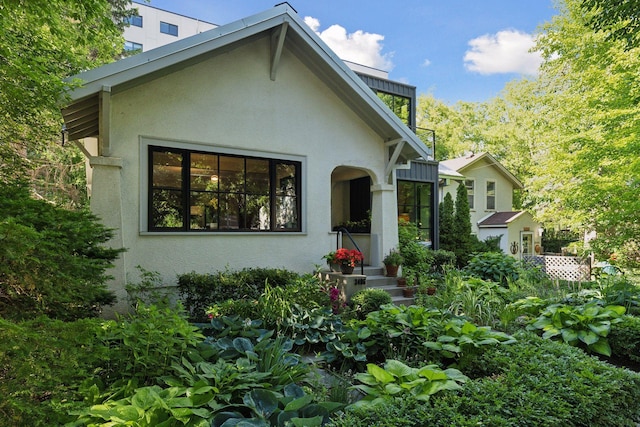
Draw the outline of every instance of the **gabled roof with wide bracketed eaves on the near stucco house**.
<instances>
[{"instance_id":1,"label":"gabled roof with wide bracketed eaves on the near stucco house","mask_svg":"<svg viewBox=\"0 0 640 427\"><path fill-rule=\"evenodd\" d=\"M400 148L395 151L391 163L432 156L411 129L287 3L71 77L69 81L79 79L82 86L70 92L71 103L62 109L69 138L74 140L98 134L101 93L127 90L262 37L271 40L271 68L266 72L271 73L273 80L277 77L280 53L287 47L388 145Z\"/></svg>"}]
</instances>

